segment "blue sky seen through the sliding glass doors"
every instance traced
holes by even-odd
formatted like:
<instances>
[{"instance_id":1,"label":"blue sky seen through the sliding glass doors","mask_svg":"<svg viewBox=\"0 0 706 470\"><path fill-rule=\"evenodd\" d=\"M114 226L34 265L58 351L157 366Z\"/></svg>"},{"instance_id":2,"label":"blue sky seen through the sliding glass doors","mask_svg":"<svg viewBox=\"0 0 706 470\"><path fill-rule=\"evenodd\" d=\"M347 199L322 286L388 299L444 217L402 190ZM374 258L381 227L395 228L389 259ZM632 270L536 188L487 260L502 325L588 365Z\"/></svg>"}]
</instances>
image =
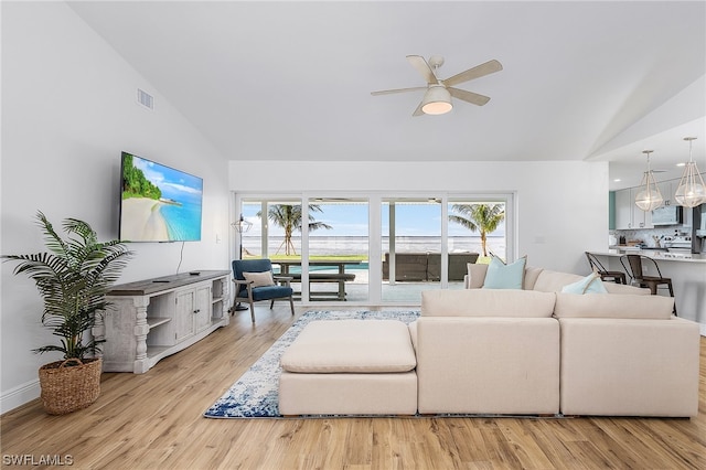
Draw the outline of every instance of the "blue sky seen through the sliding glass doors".
<instances>
[{"instance_id":1,"label":"blue sky seen through the sliding glass doors","mask_svg":"<svg viewBox=\"0 0 706 470\"><path fill-rule=\"evenodd\" d=\"M332 229L319 229L311 236L367 236L368 235L368 209L367 204L319 204L322 212L314 212L317 222L331 225ZM257 212L260 204L243 204L243 216L253 223L247 236L261 234L260 220ZM382 211L382 229L387 234L389 220L387 207ZM451 213L449 209L449 213ZM439 204L399 204L396 206L396 234L397 236L440 236L441 235L441 206ZM493 232L491 236L504 236L504 223ZM270 224L271 236L282 236L280 227ZM296 236L299 234L297 233ZM454 224L449 224L449 236L478 236L478 233Z\"/></svg>"}]
</instances>

